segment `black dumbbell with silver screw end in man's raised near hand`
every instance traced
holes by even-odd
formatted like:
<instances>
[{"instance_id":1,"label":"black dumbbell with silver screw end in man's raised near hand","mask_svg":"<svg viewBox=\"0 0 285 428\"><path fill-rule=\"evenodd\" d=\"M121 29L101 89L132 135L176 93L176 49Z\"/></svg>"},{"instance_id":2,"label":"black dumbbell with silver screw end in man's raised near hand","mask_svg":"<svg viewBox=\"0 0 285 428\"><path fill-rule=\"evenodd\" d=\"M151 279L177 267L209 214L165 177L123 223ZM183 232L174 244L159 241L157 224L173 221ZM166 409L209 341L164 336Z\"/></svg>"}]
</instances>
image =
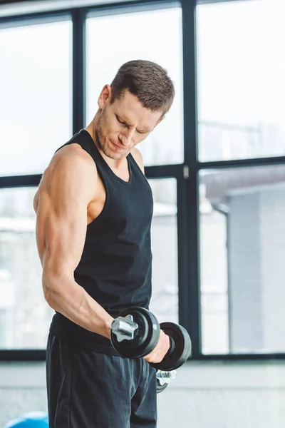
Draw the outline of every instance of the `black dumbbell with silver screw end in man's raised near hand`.
<instances>
[{"instance_id":1,"label":"black dumbbell with silver screw end in man's raised near hand","mask_svg":"<svg viewBox=\"0 0 285 428\"><path fill-rule=\"evenodd\" d=\"M110 340L120 355L140 358L155 349L160 328L170 337L170 349L159 363L150 363L157 370L171 371L182 366L191 355L190 336L181 325L162 322L144 307L131 307L120 312L111 325Z\"/></svg>"}]
</instances>

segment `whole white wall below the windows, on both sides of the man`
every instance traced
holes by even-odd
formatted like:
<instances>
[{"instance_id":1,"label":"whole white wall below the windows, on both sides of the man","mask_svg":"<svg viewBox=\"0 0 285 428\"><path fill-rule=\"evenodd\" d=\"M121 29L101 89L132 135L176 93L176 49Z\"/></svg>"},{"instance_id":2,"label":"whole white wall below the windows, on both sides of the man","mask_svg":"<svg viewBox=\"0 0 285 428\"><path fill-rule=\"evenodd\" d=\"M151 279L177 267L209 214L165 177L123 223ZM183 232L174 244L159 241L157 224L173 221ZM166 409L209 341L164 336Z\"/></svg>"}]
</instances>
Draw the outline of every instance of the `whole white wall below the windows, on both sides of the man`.
<instances>
[{"instance_id":1,"label":"whole white wall below the windows, on both sides of the man","mask_svg":"<svg viewBox=\"0 0 285 428\"><path fill-rule=\"evenodd\" d=\"M157 398L157 428L283 428L285 361L189 362ZM46 410L44 363L1 362L0 427L32 410Z\"/></svg>"}]
</instances>

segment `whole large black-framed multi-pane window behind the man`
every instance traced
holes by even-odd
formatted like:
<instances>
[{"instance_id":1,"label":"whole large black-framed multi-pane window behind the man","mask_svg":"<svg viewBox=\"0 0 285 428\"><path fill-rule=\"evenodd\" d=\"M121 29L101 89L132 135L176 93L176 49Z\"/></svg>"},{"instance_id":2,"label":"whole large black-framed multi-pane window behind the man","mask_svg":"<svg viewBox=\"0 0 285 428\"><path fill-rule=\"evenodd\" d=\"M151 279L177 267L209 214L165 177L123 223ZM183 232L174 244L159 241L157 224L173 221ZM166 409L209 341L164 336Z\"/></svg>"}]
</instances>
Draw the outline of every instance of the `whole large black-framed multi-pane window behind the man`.
<instances>
[{"instance_id":1,"label":"whole large black-framed multi-pane window behind the man","mask_svg":"<svg viewBox=\"0 0 285 428\"><path fill-rule=\"evenodd\" d=\"M176 91L139 146L155 203L150 310L187 328L195 359L283 357L284 1L107 1L0 17L0 358L44 358L53 314L31 186L135 58L167 68Z\"/></svg>"}]
</instances>

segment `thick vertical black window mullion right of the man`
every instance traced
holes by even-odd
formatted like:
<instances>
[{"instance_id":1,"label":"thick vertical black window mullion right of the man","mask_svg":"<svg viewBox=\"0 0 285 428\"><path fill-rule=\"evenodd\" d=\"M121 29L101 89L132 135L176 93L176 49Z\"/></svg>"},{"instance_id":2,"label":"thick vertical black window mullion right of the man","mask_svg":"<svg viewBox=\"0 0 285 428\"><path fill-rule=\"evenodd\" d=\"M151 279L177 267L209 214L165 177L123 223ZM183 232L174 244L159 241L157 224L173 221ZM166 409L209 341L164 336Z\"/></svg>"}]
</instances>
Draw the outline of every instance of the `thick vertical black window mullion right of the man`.
<instances>
[{"instance_id":1,"label":"thick vertical black window mullion right of the man","mask_svg":"<svg viewBox=\"0 0 285 428\"><path fill-rule=\"evenodd\" d=\"M201 354L201 322L199 303L199 182L197 165L197 83L196 83L196 25L195 0L182 0L185 215L187 229L186 255L182 255L187 270L187 290L182 292L187 303L181 307L181 319L187 320L192 340L192 357Z\"/></svg>"}]
</instances>

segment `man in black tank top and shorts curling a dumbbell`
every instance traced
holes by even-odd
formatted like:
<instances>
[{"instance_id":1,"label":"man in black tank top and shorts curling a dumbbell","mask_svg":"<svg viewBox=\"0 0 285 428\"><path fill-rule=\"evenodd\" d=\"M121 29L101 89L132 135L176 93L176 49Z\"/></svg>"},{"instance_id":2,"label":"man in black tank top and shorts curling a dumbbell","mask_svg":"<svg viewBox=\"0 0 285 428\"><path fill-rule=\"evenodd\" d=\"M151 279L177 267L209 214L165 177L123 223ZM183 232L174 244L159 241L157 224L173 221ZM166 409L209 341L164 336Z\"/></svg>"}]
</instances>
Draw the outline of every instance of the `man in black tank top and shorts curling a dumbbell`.
<instances>
[{"instance_id":1,"label":"man in black tank top and shorts curling a dumbbell","mask_svg":"<svg viewBox=\"0 0 285 428\"><path fill-rule=\"evenodd\" d=\"M135 146L162 121L175 90L166 71L130 61L98 98L93 121L56 151L34 198L43 292L56 314L46 353L51 428L156 427L160 340L120 357L110 327L151 296L152 193Z\"/></svg>"}]
</instances>

